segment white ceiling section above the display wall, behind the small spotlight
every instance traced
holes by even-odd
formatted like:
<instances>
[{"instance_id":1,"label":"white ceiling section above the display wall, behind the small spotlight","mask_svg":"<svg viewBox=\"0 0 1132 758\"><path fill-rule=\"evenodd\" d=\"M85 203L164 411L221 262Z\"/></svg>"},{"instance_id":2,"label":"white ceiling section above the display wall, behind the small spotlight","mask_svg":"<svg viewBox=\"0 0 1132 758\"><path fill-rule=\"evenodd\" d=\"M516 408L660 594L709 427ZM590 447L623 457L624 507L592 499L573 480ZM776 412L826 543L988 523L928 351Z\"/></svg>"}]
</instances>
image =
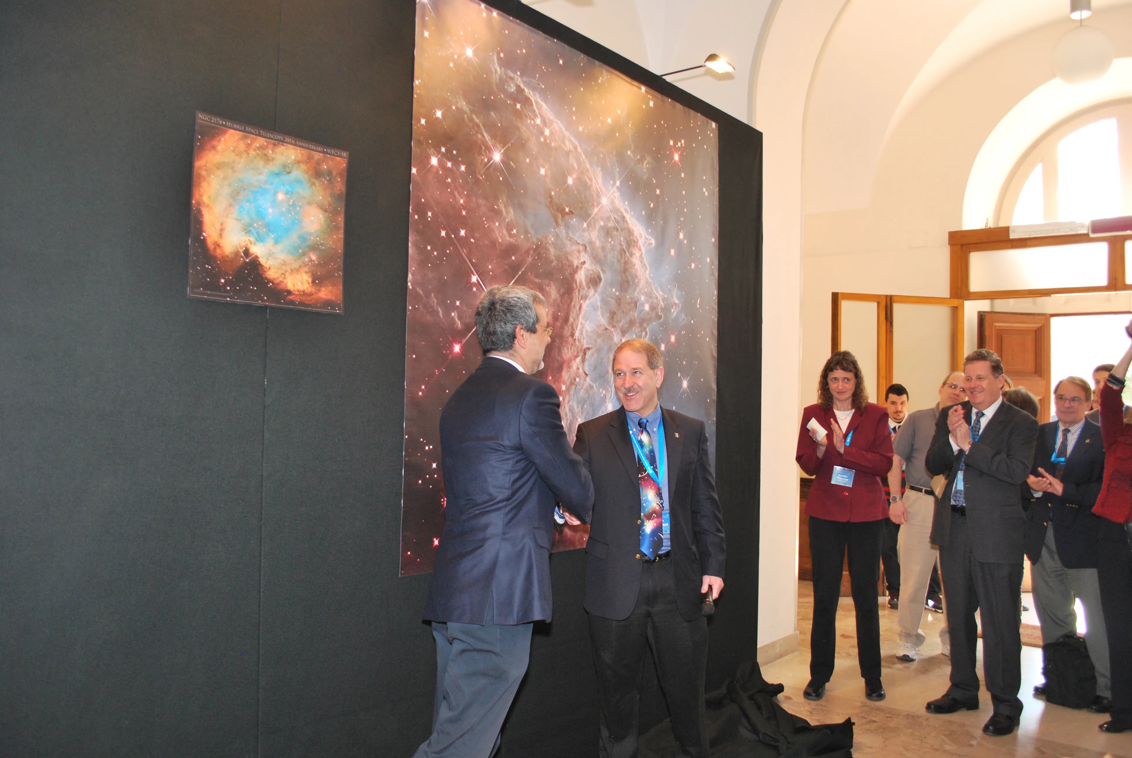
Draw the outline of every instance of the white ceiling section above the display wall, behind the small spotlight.
<instances>
[{"instance_id":1,"label":"white ceiling section above the display wall, behind the small spotlight","mask_svg":"<svg viewBox=\"0 0 1132 758\"><path fill-rule=\"evenodd\" d=\"M723 56L735 65L735 74L701 69L669 80L748 120L752 62L772 0L525 1L655 74L697 66L713 52Z\"/></svg>"}]
</instances>

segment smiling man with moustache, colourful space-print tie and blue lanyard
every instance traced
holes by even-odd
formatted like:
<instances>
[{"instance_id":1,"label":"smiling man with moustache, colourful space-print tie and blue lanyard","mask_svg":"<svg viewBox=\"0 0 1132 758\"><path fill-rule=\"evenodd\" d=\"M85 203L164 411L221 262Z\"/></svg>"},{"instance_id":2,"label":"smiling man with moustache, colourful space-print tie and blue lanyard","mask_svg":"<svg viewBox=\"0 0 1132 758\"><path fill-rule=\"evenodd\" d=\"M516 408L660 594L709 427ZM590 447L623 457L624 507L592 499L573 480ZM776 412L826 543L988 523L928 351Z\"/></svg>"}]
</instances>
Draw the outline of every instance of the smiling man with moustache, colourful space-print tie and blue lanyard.
<instances>
[{"instance_id":1,"label":"smiling man with moustache, colourful space-print tie and blue lanyard","mask_svg":"<svg viewBox=\"0 0 1132 758\"><path fill-rule=\"evenodd\" d=\"M614 354L621 408L577 427L593 475L585 610L598 673L599 755L636 756L638 682L652 647L679 756L707 758L702 595L723 589L726 547L704 423L662 409L660 350ZM659 427L659 428L658 428Z\"/></svg>"}]
</instances>

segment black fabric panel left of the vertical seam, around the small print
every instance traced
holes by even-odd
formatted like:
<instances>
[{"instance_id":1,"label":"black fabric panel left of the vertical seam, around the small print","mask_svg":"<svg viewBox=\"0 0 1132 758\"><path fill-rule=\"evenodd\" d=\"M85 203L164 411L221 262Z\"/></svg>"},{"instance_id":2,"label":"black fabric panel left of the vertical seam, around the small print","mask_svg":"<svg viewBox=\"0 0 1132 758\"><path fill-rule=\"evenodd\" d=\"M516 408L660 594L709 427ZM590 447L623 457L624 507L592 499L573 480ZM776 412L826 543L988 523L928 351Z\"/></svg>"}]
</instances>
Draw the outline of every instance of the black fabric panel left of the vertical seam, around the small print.
<instances>
[{"instance_id":1,"label":"black fabric panel left of the vertical seam, around the small print","mask_svg":"<svg viewBox=\"0 0 1132 758\"><path fill-rule=\"evenodd\" d=\"M277 16L0 6L0 755L256 748L266 313L188 300L186 240Z\"/></svg>"}]
</instances>

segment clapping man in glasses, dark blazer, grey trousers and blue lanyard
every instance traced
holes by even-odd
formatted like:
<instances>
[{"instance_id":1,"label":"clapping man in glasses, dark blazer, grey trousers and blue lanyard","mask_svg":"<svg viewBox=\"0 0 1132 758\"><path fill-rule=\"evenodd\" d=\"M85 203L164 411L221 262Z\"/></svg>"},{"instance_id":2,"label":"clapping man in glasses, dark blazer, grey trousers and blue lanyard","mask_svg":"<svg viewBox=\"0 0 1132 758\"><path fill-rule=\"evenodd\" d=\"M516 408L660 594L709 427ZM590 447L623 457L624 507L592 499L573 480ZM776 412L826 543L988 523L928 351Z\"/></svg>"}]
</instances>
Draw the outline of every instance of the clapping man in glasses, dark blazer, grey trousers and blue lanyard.
<instances>
[{"instance_id":1,"label":"clapping man in glasses, dark blazer, grey trousers and blue lanyard","mask_svg":"<svg viewBox=\"0 0 1132 758\"><path fill-rule=\"evenodd\" d=\"M1086 418L1092 387L1070 376L1054 387L1057 420L1038 429L1034 468L1023 496L1034 501L1026 512L1026 554L1032 563L1034 607L1041 622L1041 641L1054 642L1077 633L1077 599L1084 606L1084 641L1097 672L1094 713L1112 709L1108 633L1097 580L1097 539L1100 519L1092 506L1105 478L1105 445L1100 426ZM1045 684L1034 688L1045 695Z\"/></svg>"}]
</instances>

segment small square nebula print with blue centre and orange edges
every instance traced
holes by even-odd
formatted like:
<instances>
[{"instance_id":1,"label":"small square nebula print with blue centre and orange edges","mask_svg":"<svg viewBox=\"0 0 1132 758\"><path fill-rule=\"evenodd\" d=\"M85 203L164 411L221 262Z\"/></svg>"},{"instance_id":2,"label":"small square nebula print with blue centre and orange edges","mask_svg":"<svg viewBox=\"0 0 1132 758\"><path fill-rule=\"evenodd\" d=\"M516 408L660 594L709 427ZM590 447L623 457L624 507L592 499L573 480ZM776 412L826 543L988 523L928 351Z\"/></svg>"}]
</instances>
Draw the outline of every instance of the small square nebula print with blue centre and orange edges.
<instances>
[{"instance_id":1,"label":"small square nebula print with blue centre and orange edges","mask_svg":"<svg viewBox=\"0 0 1132 758\"><path fill-rule=\"evenodd\" d=\"M348 159L197 112L189 297L342 313Z\"/></svg>"}]
</instances>

